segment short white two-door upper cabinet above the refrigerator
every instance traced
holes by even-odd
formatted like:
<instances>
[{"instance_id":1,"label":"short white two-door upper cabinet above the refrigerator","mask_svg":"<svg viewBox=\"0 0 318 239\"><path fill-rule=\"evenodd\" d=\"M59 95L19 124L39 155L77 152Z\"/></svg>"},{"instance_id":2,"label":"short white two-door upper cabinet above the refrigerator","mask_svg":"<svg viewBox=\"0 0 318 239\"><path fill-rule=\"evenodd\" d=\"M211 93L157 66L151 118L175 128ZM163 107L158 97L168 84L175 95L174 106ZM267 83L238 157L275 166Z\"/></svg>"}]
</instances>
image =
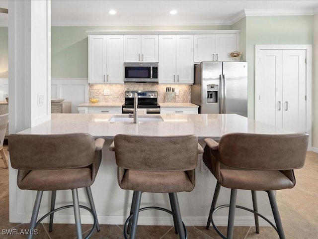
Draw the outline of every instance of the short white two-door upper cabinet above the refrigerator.
<instances>
[{"instance_id":1,"label":"short white two-door upper cabinet above the refrigerator","mask_svg":"<svg viewBox=\"0 0 318 239\"><path fill-rule=\"evenodd\" d=\"M194 62L234 61L230 53L236 50L237 34L194 35Z\"/></svg>"}]
</instances>

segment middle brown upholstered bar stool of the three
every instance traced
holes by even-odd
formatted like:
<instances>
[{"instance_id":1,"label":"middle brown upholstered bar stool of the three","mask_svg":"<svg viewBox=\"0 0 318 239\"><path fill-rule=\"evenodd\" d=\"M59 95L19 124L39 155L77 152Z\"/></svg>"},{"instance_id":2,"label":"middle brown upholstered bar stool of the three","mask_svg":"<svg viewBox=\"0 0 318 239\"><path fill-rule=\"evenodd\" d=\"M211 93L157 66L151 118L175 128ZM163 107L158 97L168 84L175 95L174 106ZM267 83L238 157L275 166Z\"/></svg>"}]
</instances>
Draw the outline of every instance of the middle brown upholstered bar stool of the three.
<instances>
[{"instance_id":1,"label":"middle brown upholstered bar stool of the three","mask_svg":"<svg viewBox=\"0 0 318 239\"><path fill-rule=\"evenodd\" d=\"M124 237L127 238L129 222L127 233L130 233L131 239L135 238L140 211L159 209L172 214L176 233L179 233L180 239L185 239L186 229L176 193L190 192L194 188L198 153L203 153L198 138L194 135L153 137L118 134L110 150L115 151L119 186L134 191ZM140 209L142 192L168 193L171 211L158 207Z\"/></svg>"}]
</instances>

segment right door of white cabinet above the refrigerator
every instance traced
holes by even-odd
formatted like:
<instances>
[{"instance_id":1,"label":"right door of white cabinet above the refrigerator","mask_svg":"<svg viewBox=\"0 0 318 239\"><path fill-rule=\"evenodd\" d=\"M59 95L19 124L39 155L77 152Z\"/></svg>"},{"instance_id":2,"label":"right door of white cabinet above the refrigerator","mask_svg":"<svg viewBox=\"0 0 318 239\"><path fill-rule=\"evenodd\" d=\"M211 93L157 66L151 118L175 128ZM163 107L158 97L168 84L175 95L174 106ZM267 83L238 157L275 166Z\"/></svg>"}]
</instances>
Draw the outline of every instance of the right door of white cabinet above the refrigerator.
<instances>
[{"instance_id":1,"label":"right door of white cabinet above the refrigerator","mask_svg":"<svg viewBox=\"0 0 318 239\"><path fill-rule=\"evenodd\" d=\"M215 61L234 61L230 53L237 50L237 34L215 35Z\"/></svg>"}]
</instances>

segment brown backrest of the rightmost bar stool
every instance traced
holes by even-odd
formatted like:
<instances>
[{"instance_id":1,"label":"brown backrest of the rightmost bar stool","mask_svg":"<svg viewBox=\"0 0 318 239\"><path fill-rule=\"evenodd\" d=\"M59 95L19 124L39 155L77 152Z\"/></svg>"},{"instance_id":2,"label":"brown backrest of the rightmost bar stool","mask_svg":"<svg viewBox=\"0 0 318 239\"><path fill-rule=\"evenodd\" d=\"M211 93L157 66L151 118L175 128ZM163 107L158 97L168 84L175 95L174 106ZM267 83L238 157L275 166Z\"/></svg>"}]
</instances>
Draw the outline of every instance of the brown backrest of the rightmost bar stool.
<instances>
[{"instance_id":1,"label":"brown backrest of the rightmost bar stool","mask_svg":"<svg viewBox=\"0 0 318 239\"><path fill-rule=\"evenodd\" d=\"M221 163L255 170L290 170L304 166L309 135L229 133L219 142Z\"/></svg>"}]
</instances>

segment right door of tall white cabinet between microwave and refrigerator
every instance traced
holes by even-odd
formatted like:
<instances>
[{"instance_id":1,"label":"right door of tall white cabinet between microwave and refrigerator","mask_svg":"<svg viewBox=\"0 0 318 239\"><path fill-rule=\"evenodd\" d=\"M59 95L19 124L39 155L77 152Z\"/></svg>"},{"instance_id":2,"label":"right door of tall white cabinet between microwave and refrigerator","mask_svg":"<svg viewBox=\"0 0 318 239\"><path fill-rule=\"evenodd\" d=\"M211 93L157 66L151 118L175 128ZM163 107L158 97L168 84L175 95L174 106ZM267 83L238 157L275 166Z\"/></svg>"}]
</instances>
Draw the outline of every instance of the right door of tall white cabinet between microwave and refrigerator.
<instances>
[{"instance_id":1,"label":"right door of tall white cabinet between microwave and refrigerator","mask_svg":"<svg viewBox=\"0 0 318 239\"><path fill-rule=\"evenodd\" d=\"M176 83L193 84L193 35L176 35Z\"/></svg>"}]
</instances>

